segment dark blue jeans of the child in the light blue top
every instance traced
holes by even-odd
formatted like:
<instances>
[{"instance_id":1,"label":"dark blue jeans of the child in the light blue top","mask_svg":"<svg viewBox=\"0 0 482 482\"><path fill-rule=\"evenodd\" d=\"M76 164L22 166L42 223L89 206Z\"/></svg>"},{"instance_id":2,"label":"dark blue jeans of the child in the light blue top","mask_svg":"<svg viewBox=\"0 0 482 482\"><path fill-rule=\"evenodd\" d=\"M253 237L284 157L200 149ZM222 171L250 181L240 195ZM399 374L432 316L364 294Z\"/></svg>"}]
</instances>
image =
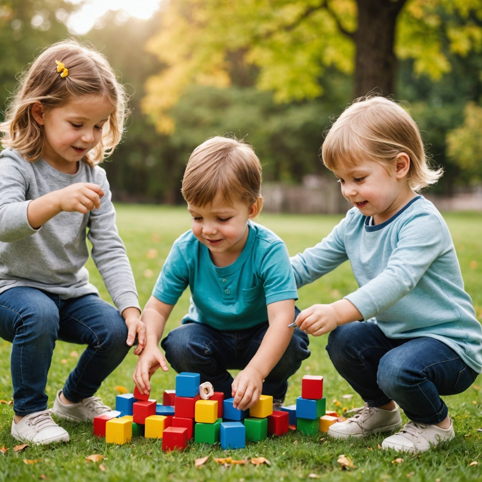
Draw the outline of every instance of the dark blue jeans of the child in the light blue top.
<instances>
[{"instance_id":1,"label":"dark blue jeans of the child in the light blue top","mask_svg":"<svg viewBox=\"0 0 482 482\"><path fill-rule=\"evenodd\" d=\"M463 392L472 370L452 348L435 338L388 338L375 323L339 326L326 346L338 373L372 407L394 400L410 420L436 424L448 414L440 395Z\"/></svg>"}]
</instances>

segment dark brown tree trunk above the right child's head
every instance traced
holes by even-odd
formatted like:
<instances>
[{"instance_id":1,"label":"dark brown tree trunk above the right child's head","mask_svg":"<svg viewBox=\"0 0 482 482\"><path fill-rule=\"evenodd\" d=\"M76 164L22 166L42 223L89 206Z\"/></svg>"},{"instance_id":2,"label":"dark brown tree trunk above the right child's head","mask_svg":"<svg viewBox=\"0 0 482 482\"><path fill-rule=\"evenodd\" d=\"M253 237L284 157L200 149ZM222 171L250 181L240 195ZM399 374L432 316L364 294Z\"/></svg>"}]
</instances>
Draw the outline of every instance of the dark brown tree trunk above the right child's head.
<instances>
[{"instance_id":1,"label":"dark brown tree trunk above the right child's head","mask_svg":"<svg viewBox=\"0 0 482 482\"><path fill-rule=\"evenodd\" d=\"M397 58L393 51L395 22L406 0L358 0L355 97L369 92L395 94Z\"/></svg>"}]
</instances>

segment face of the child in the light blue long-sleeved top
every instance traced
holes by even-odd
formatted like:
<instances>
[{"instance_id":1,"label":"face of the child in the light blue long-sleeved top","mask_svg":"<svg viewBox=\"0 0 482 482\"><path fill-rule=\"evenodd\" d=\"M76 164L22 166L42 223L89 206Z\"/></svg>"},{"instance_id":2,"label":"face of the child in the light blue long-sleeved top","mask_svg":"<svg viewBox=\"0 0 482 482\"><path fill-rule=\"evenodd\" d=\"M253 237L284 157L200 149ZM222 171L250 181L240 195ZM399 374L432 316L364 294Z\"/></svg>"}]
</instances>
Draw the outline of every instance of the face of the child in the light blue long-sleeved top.
<instances>
[{"instance_id":1,"label":"face of the child in the light blue long-sleeved top","mask_svg":"<svg viewBox=\"0 0 482 482\"><path fill-rule=\"evenodd\" d=\"M357 165L346 163L333 171L345 199L363 215L373 216L375 224L390 219L413 198L414 192L408 187L403 172L398 160L387 167L370 160Z\"/></svg>"}]
</instances>

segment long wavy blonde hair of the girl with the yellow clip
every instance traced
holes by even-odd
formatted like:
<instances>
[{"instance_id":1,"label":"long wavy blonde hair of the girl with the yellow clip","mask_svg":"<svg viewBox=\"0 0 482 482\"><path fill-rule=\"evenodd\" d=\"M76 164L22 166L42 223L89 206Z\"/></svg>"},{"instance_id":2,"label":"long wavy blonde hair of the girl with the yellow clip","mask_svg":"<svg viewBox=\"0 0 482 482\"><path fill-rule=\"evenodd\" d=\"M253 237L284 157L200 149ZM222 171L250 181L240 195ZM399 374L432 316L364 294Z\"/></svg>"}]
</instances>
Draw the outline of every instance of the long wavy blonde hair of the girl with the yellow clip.
<instances>
[{"instance_id":1,"label":"long wavy blonde hair of the girl with the yellow clip","mask_svg":"<svg viewBox=\"0 0 482 482\"><path fill-rule=\"evenodd\" d=\"M57 72L55 61L65 64L67 77ZM117 80L107 58L93 47L76 40L62 40L47 47L26 72L7 108L5 121L0 124L3 147L16 149L27 161L42 157L43 128L34 120L32 106L40 102L45 110L62 107L72 99L87 95L103 95L114 111L102 129L99 143L82 161L91 166L110 156L122 138L127 115L128 95Z\"/></svg>"}]
</instances>

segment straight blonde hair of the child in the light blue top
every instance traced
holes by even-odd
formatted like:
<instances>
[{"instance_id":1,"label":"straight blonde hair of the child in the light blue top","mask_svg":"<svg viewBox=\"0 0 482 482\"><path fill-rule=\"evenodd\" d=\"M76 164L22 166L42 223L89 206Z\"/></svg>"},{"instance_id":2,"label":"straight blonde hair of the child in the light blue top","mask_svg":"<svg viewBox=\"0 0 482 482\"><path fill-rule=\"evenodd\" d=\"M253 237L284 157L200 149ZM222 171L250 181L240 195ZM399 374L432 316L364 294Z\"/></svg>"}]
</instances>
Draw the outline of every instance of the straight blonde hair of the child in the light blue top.
<instances>
[{"instance_id":1,"label":"straight blonde hair of the child in the light blue top","mask_svg":"<svg viewBox=\"0 0 482 482\"><path fill-rule=\"evenodd\" d=\"M418 191L436 183L443 170L430 166L420 131L410 114L396 102L381 96L366 96L347 107L332 125L321 146L324 165L333 171L339 163L363 160L384 164L405 152L410 157L406 176Z\"/></svg>"}]
</instances>

